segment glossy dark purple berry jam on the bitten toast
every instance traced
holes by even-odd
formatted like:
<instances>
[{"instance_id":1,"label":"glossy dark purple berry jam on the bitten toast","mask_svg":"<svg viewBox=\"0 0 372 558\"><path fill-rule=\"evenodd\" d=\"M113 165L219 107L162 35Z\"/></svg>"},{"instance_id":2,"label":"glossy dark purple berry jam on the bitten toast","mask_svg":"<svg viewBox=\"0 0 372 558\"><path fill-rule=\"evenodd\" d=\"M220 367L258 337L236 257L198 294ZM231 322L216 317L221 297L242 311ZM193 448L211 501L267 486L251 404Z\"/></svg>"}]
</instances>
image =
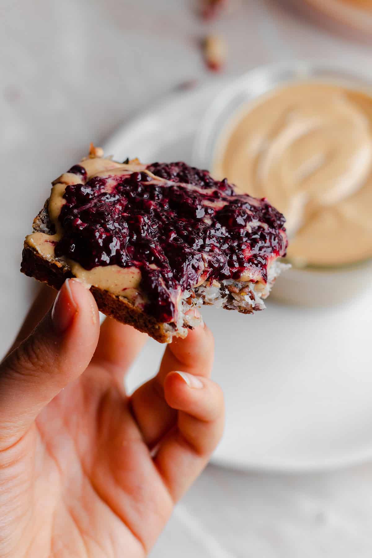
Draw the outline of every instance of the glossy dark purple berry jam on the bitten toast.
<instances>
[{"instance_id":1,"label":"glossy dark purple berry jam on the bitten toast","mask_svg":"<svg viewBox=\"0 0 372 558\"><path fill-rule=\"evenodd\" d=\"M78 167L69 172L83 179ZM109 193L102 177L67 186L59 217L65 234L56 255L88 270L109 264L141 268L147 311L165 322L175 316L172 294L195 285L201 273L212 282L239 279L250 268L267 280L269 259L284 256L287 247L279 211L265 199L235 195L227 180L215 181L182 162L153 163L147 170L165 182L154 184L146 172L133 172L118 177Z\"/></svg>"}]
</instances>

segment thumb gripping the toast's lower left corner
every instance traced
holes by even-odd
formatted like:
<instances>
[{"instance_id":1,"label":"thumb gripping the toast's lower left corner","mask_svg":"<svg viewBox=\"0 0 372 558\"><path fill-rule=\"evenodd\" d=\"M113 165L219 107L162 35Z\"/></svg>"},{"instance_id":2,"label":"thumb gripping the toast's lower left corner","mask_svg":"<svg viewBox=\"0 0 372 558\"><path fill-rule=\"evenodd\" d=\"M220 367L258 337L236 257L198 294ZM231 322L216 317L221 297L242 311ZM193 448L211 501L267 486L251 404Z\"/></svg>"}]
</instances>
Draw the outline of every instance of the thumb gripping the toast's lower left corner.
<instances>
[{"instance_id":1,"label":"thumb gripping the toast's lower left corner","mask_svg":"<svg viewBox=\"0 0 372 558\"><path fill-rule=\"evenodd\" d=\"M67 279L52 309L0 365L0 440L22 435L93 356L99 315L93 295Z\"/></svg>"}]
</instances>

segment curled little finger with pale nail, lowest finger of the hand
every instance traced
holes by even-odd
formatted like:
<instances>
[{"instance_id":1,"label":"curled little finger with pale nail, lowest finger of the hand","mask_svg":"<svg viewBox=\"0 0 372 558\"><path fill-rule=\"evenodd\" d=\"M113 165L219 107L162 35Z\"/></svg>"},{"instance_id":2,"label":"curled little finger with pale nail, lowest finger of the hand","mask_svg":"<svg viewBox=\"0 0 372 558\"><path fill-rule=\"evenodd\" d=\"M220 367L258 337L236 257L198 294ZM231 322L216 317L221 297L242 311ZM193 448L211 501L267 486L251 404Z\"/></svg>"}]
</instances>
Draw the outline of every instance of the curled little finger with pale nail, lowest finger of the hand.
<instances>
[{"instance_id":1,"label":"curled little finger with pale nail, lowest finger of the hand","mask_svg":"<svg viewBox=\"0 0 372 558\"><path fill-rule=\"evenodd\" d=\"M164 392L168 405L178 410L177 427L160 442L154 464L177 501L221 439L224 400L215 382L184 372L168 374Z\"/></svg>"}]
</instances>

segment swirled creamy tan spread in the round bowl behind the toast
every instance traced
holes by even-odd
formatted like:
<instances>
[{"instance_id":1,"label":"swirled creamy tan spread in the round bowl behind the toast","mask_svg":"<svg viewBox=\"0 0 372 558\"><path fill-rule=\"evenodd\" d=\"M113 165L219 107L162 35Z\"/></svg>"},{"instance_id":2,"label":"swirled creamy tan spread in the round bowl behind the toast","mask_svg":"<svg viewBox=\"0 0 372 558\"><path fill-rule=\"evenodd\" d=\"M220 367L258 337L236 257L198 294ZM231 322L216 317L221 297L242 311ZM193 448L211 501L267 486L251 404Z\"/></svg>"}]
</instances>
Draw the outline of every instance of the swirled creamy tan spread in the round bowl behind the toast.
<instances>
[{"instance_id":1,"label":"swirled creamy tan spread in the round bowl behind the toast","mask_svg":"<svg viewBox=\"0 0 372 558\"><path fill-rule=\"evenodd\" d=\"M214 175L268 198L287 218L294 262L372 257L372 97L303 82L246 105L216 151Z\"/></svg>"}]
</instances>

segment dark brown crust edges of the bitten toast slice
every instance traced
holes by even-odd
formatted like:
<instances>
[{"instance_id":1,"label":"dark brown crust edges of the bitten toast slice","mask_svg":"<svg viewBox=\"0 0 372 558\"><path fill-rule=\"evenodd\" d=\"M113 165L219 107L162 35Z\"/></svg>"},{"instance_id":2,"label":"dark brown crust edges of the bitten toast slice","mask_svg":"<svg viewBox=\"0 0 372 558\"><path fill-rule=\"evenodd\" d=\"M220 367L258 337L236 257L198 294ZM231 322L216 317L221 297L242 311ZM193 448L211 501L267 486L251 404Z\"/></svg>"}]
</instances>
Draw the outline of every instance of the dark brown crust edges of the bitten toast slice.
<instances>
[{"instance_id":1,"label":"dark brown crust edges of the bitten toast slice","mask_svg":"<svg viewBox=\"0 0 372 558\"><path fill-rule=\"evenodd\" d=\"M49 200L46 201L44 208L33 220L34 232L54 234L47 211L48 202ZM38 281L47 283L47 285L57 290L61 288L67 278L74 277L66 263L56 258L47 260L35 248L27 244L26 240L23 245L21 272L28 277L34 277ZM170 324L158 322L122 296L113 295L109 291L94 285L90 287L90 292L94 296L98 309L103 314L123 324L132 325L139 331L147 333L159 343L170 343L172 341L174 331L168 329Z\"/></svg>"}]
</instances>

